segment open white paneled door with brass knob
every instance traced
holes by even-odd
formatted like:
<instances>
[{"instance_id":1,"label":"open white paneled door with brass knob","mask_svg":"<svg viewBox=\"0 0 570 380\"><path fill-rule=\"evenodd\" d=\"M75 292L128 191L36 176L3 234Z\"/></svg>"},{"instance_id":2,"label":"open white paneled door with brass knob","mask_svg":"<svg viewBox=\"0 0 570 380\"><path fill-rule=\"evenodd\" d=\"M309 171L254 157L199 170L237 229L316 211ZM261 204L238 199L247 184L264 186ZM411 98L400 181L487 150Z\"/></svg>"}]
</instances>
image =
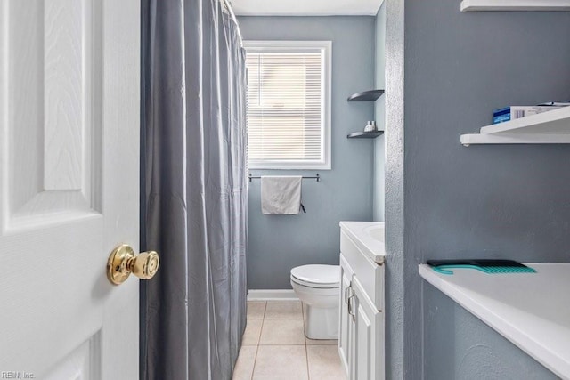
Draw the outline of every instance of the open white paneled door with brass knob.
<instances>
[{"instance_id":1,"label":"open white paneled door with brass knob","mask_svg":"<svg viewBox=\"0 0 570 380\"><path fill-rule=\"evenodd\" d=\"M138 378L139 7L0 1L0 378Z\"/></svg>"}]
</instances>

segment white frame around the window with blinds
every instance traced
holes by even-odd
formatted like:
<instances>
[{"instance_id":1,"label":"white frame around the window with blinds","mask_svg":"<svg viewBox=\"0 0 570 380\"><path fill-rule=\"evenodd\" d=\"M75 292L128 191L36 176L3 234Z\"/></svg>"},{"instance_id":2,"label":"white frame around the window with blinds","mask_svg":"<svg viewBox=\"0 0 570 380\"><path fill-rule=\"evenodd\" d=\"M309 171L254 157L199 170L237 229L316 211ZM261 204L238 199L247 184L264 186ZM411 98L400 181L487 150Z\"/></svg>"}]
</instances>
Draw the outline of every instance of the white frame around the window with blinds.
<instances>
[{"instance_id":1,"label":"white frame around the window with blinds","mask_svg":"<svg viewBox=\"0 0 570 380\"><path fill-rule=\"evenodd\" d=\"M246 51L254 52L302 52L303 50L322 50L322 135L321 135L321 159L264 159L251 161L248 158L250 169L272 169L272 170L305 170L318 169L330 170L331 162L331 66L332 66L332 41L256 41L244 40L243 47Z\"/></svg>"}]
</instances>

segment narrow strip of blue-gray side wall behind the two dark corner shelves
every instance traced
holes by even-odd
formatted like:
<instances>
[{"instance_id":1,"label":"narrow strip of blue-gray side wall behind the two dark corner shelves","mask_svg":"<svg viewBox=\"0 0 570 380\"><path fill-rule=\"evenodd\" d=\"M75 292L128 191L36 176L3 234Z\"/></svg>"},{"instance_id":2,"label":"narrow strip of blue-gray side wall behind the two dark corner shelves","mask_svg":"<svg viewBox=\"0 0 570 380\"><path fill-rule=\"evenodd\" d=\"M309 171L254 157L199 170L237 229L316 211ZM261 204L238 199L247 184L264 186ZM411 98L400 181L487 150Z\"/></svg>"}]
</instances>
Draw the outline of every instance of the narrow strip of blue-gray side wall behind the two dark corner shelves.
<instances>
[{"instance_id":1,"label":"narrow strip of blue-gray side wall behind the two dark corner shelves","mask_svg":"<svg viewBox=\"0 0 570 380\"><path fill-rule=\"evenodd\" d=\"M379 12L376 15L375 22L375 65L374 65L374 83L375 87L379 89L386 88L386 4L380 6ZM386 129L386 111L385 111L386 98L381 96L378 101L374 103L374 119L379 129ZM385 136L381 135L374 141L374 188L373 188L373 202L374 207L373 218L376 222L384 221L384 192L386 191L384 183L384 155L386 153L384 144Z\"/></svg>"}]
</instances>

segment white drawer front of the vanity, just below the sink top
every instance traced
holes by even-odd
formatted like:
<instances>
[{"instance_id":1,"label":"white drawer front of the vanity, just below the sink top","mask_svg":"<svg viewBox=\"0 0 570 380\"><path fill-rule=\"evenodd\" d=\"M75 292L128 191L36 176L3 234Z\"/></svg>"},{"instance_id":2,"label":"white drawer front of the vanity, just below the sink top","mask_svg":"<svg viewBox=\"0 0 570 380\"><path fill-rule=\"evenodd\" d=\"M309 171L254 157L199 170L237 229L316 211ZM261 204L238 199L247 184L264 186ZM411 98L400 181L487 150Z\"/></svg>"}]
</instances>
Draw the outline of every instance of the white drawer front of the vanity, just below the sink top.
<instances>
[{"instance_id":1,"label":"white drawer front of the vanity, just below the sink top","mask_svg":"<svg viewBox=\"0 0 570 380\"><path fill-rule=\"evenodd\" d=\"M340 231L340 253L345 257L362 288L378 310L384 310L384 266L374 263L354 244L345 231Z\"/></svg>"}]
</instances>

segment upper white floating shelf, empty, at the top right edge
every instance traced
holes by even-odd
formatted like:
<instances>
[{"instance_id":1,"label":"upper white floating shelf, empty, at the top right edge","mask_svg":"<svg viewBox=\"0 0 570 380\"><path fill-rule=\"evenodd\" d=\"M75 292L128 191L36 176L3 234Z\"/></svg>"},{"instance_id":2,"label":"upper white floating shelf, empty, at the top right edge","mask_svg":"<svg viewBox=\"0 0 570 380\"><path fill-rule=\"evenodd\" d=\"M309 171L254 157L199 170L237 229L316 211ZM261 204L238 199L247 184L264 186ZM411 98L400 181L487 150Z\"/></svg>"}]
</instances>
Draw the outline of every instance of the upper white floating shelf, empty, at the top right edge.
<instances>
[{"instance_id":1,"label":"upper white floating shelf, empty, at the top right edge","mask_svg":"<svg viewBox=\"0 0 570 380\"><path fill-rule=\"evenodd\" d=\"M570 0L463 0L469 11L570 11Z\"/></svg>"}]
</instances>

